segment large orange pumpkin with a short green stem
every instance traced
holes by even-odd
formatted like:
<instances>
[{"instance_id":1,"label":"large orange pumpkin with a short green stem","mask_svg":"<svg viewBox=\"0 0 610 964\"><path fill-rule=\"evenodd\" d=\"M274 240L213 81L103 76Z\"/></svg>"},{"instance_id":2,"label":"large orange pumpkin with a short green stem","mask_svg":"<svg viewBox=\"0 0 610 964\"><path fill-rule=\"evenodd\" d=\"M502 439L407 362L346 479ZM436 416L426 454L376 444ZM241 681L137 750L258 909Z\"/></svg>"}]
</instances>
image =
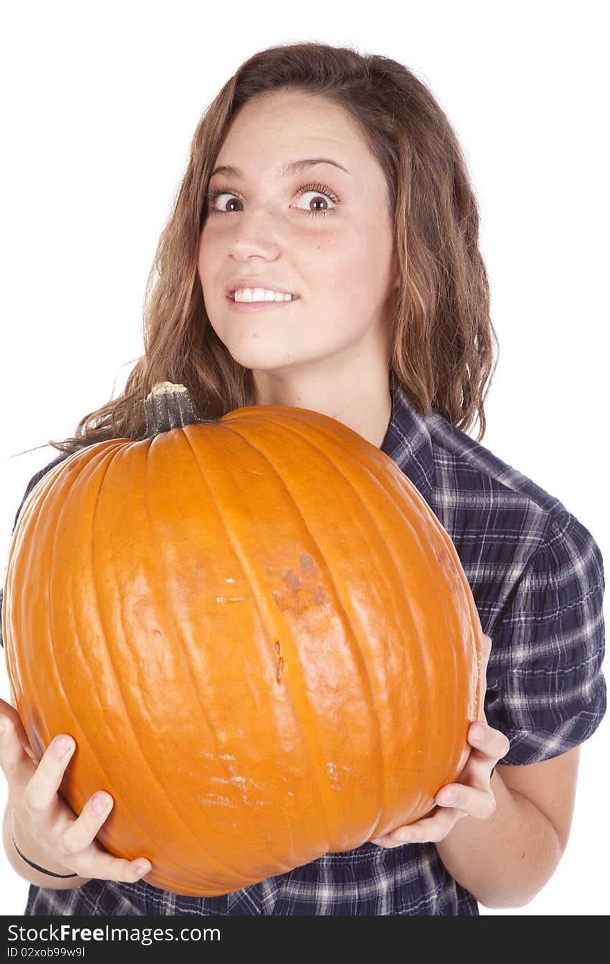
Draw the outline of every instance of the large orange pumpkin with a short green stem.
<instances>
[{"instance_id":1,"label":"large orange pumpkin with a short green stem","mask_svg":"<svg viewBox=\"0 0 610 964\"><path fill-rule=\"evenodd\" d=\"M468 756L482 630L411 481L334 419L202 421L183 386L146 436L51 469L13 532L2 622L19 716L99 841L213 896L411 822Z\"/></svg>"}]
</instances>

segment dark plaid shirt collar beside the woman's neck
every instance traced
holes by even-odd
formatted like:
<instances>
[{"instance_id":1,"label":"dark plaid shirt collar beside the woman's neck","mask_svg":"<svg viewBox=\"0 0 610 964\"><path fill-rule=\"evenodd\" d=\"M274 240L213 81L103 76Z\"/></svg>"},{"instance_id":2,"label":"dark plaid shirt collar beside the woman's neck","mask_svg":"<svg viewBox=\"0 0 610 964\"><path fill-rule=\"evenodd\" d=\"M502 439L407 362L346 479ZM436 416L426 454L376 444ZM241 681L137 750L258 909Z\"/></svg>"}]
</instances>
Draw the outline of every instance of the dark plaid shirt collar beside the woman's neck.
<instances>
[{"instance_id":1,"label":"dark plaid shirt collar beside the woman's neck","mask_svg":"<svg viewBox=\"0 0 610 964\"><path fill-rule=\"evenodd\" d=\"M382 452L402 469L431 505L435 467L428 420L425 415L416 412L404 388L394 377L390 378L389 384L392 414Z\"/></svg>"}]
</instances>

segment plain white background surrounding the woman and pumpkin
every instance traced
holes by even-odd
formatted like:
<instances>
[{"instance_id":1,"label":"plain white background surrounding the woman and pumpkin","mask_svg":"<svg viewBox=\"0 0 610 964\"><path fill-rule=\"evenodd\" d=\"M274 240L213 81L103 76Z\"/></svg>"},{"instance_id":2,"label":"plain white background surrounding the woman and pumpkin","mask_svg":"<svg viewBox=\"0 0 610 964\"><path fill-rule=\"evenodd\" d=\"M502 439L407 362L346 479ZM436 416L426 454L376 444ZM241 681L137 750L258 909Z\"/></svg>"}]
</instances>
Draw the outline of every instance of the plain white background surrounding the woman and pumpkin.
<instances>
[{"instance_id":1,"label":"plain white background surrounding the woman and pumpkin","mask_svg":"<svg viewBox=\"0 0 610 964\"><path fill-rule=\"evenodd\" d=\"M17 453L66 438L142 354L146 276L199 116L255 50L289 40L398 60L446 111L481 205L500 341L483 444L559 497L608 558L603 8L14 4L0 57L3 566L27 482L58 454ZM544 890L482 914L608 913L609 743L604 719L583 745L570 843ZM2 852L2 913L22 914L27 890Z\"/></svg>"}]
</instances>

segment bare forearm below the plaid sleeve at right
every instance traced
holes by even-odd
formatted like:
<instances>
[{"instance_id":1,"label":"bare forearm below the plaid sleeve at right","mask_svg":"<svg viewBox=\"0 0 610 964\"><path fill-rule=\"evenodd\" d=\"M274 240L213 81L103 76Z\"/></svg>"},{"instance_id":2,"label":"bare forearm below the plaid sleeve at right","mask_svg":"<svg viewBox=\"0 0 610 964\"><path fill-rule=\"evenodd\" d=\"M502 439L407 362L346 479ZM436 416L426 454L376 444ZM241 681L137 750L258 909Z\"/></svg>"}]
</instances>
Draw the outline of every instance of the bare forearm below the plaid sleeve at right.
<instances>
[{"instance_id":1,"label":"bare forearm below the plaid sleeve at right","mask_svg":"<svg viewBox=\"0 0 610 964\"><path fill-rule=\"evenodd\" d=\"M522 907L543 889L562 849L552 823L530 800L491 778L495 811L463 817L437 844L444 866L486 907Z\"/></svg>"}]
</instances>

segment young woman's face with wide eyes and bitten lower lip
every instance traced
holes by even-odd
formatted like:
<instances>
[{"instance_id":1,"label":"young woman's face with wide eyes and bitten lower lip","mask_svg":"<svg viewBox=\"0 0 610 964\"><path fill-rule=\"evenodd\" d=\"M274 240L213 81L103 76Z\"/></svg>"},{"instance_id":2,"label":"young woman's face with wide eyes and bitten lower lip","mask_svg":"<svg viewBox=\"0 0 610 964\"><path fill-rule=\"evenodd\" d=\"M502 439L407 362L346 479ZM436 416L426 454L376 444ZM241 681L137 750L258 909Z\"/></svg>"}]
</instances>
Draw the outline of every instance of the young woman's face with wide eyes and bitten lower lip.
<instances>
[{"instance_id":1,"label":"young woman's face with wide eyes and bitten lower lip","mask_svg":"<svg viewBox=\"0 0 610 964\"><path fill-rule=\"evenodd\" d=\"M341 167L282 173L321 157ZM389 370L392 224L382 168L349 116L321 97L267 94L233 119L221 166L239 174L210 177L209 190L223 193L208 202L198 271L210 323L232 357L285 379L360 352L382 353ZM298 298L240 311L227 289L249 278Z\"/></svg>"}]
</instances>

